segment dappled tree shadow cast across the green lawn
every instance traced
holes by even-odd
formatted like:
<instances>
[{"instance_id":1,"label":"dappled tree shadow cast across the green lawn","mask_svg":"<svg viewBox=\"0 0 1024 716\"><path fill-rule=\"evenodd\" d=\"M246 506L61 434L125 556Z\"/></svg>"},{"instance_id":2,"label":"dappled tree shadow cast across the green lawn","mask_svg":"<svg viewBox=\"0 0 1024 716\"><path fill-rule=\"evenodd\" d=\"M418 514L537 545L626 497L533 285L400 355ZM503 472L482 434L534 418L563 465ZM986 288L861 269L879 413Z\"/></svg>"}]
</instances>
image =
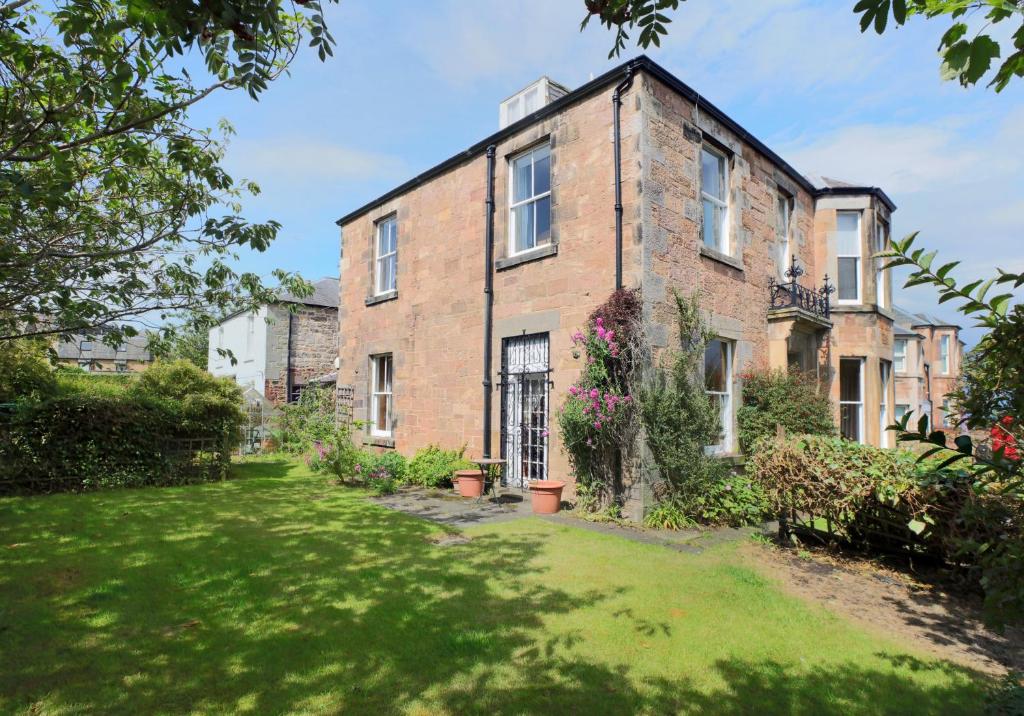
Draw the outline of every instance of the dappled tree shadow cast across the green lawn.
<instances>
[{"instance_id":1,"label":"dappled tree shadow cast across the green lawn","mask_svg":"<svg viewBox=\"0 0 1024 716\"><path fill-rule=\"evenodd\" d=\"M710 692L640 680L546 630L616 592L545 586L543 543L440 548L436 525L260 468L0 502L0 711L936 713L977 697L967 677L770 661L718 662Z\"/></svg>"}]
</instances>

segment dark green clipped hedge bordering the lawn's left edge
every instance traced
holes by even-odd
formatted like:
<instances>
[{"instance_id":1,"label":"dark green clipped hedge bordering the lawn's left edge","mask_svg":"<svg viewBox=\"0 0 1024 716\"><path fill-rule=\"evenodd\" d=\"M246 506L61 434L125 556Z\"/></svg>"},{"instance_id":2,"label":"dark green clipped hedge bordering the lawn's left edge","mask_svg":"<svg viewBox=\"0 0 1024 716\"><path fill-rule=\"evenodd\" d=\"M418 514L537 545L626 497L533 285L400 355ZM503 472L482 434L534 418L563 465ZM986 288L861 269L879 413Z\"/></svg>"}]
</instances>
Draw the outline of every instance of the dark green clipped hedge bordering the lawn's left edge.
<instances>
[{"instance_id":1,"label":"dark green clipped hedge bordering the lawn's left edge","mask_svg":"<svg viewBox=\"0 0 1024 716\"><path fill-rule=\"evenodd\" d=\"M0 363L4 363L0 361ZM244 416L233 382L185 361L100 380L57 373L54 390L19 401L0 422L0 482L17 492L177 485L223 476ZM112 377L113 378L113 377ZM193 469L182 439L210 440ZM184 461L184 462L182 462Z\"/></svg>"}]
</instances>

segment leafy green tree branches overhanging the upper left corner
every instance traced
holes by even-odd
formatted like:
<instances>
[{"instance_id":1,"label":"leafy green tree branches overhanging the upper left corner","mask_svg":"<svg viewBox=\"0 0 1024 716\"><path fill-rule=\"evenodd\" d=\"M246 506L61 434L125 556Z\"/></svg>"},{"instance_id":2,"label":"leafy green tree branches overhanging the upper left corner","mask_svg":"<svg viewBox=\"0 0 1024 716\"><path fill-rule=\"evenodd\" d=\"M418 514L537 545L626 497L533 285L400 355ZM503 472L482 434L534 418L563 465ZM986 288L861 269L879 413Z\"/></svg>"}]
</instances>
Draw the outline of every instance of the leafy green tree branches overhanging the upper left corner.
<instances>
[{"instance_id":1,"label":"leafy green tree branches overhanging the upper left corner","mask_svg":"<svg viewBox=\"0 0 1024 716\"><path fill-rule=\"evenodd\" d=\"M189 109L255 98L333 42L315 0L0 3L0 341L108 328L116 345L129 319L271 300L231 261L280 226L240 215L258 187L222 166L230 127L191 126Z\"/></svg>"}]
</instances>

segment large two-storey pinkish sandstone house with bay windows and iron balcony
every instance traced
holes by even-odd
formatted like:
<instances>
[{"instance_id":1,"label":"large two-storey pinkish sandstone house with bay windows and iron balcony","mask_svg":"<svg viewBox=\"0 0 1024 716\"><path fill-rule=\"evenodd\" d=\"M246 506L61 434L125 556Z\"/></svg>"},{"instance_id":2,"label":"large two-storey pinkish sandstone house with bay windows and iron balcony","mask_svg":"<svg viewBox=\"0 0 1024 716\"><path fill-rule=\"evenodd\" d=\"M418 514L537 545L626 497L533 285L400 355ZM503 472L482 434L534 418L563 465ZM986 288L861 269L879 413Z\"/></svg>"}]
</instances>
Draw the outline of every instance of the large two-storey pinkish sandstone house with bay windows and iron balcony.
<instances>
[{"instance_id":1,"label":"large two-storey pinkish sandstone house with bay windows and iron balcony","mask_svg":"<svg viewBox=\"0 0 1024 716\"><path fill-rule=\"evenodd\" d=\"M886 194L811 180L646 57L562 89L542 78L499 131L338 220L339 395L364 443L466 445L505 458L510 485L571 481L554 429L571 336L625 286L656 350L678 340L672 289L698 293L718 334L710 449L737 453L745 367L816 372L843 434L888 444ZM637 516L649 480L624 482Z\"/></svg>"}]
</instances>

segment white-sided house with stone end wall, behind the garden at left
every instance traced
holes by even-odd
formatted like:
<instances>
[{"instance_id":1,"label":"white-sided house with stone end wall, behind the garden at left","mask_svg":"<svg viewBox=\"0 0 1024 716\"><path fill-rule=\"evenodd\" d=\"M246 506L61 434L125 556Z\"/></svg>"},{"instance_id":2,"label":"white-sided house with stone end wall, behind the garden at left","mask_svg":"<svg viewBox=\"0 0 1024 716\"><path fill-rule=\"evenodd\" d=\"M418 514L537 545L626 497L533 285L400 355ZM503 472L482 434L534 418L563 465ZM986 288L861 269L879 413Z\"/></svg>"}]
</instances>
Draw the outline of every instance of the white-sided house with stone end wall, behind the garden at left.
<instances>
[{"instance_id":1,"label":"white-sided house with stone end wall, behind the garden at left","mask_svg":"<svg viewBox=\"0 0 1024 716\"><path fill-rule=\"evenodd\" d=\"M210 373L254 388L273 406L298 399L307 385L333 387L338 296L338 279L326 278L310 296L283 293L276 303L228 315L210 329Z\"/></svg>"}]
</instances>

